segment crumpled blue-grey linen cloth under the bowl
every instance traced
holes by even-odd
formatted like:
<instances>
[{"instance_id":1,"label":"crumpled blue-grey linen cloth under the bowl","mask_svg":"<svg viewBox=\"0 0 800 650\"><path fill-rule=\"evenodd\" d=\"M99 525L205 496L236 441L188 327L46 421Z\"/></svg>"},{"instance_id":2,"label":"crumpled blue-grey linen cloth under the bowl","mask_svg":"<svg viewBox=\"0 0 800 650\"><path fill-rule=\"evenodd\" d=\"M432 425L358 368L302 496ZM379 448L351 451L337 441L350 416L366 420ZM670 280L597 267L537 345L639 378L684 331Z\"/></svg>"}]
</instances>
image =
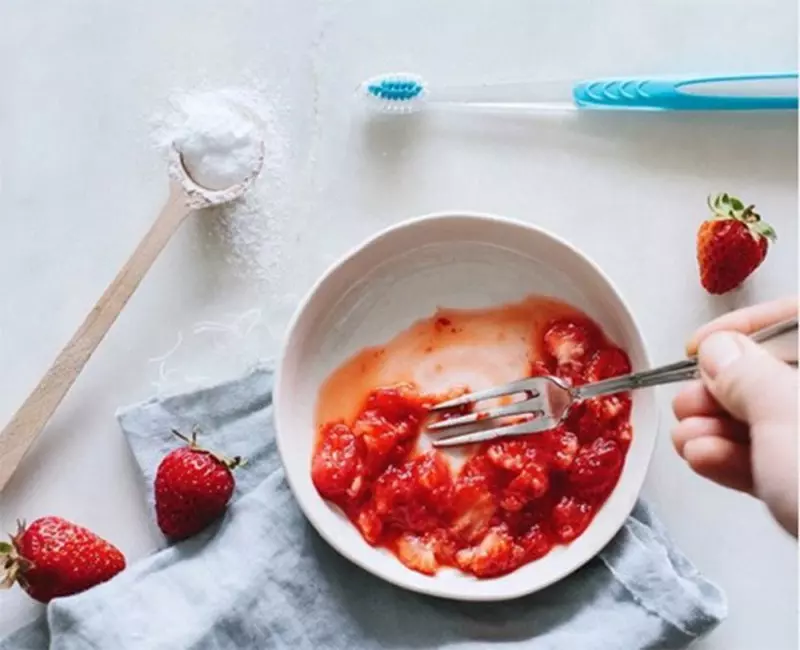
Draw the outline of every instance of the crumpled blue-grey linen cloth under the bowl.
<instances>
[{"instance_id":1,"label":"crumpled blue-grey linen cloth under the bowl","mask_svg":"<svg viewBox=\"0 0 800 650\"><path fill-rule=\"evenodd\" d=\"M266 368L118 417L148 492L174 448L170 428L199 425L208 447L246 456L234 502L212 529L53 601L0 650L663 649L687 646L726 614L722 592L642 503L596 558L525 598L451 602L373 577L298 509L278 459Z\"/></svg>"}]
</instances>

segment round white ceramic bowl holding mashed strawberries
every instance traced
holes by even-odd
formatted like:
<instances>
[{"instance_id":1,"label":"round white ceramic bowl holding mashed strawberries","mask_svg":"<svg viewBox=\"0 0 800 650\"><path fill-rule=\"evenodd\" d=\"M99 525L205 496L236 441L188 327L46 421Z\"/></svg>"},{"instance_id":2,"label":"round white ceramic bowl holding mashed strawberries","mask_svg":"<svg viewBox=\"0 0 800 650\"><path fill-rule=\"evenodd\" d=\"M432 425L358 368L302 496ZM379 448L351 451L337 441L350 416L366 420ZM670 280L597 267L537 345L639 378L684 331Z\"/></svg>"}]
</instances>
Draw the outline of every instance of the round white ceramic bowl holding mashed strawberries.
<instances>
[{"instance_id":1,"label":"round white ceramic bowl holding mashed strawberries","mask_svg":"<svg viewBox=\"0 0 800 650\"><path fill-rule=\"evenodd\" d=\"M651 391L634 395L634 437L622 476L586 532L499 578L479 580L454 569L429 577L407 569L388 552L369 546L311 482L314 409L331 371L437 307L488 307L529 294L550 295L578 307L628 352L634 369L650 365L630 310L602 271L558 237L507 219L456 213L406 221L352 251L311 289L292 319L278 368L278 449L300 507L342 555L413 591L456 600L503 600L567 576L620 529L653 452L658 417Z\"/></svg>"}]
</instances>

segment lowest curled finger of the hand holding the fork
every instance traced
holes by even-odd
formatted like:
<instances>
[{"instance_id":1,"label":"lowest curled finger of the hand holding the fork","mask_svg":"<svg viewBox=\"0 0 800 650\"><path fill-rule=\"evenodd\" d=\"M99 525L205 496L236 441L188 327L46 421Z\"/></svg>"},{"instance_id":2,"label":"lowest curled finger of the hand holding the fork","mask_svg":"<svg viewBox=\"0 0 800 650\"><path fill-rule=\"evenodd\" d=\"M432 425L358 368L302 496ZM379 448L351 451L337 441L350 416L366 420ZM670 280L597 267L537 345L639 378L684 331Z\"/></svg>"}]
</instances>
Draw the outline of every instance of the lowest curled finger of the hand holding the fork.
<instances>
[{"instance_id":1,"label":"lowest curled finger of the hand holding the fork","mask_svg":"<svg viewBox=\"0 0 800 650\"><path fill-rule=\"evenodd\" d=\"M684 458L700 476L742 492L752 493L750 446L719 437L695 438L686 443Z\"/></svg>"}]
</instances>

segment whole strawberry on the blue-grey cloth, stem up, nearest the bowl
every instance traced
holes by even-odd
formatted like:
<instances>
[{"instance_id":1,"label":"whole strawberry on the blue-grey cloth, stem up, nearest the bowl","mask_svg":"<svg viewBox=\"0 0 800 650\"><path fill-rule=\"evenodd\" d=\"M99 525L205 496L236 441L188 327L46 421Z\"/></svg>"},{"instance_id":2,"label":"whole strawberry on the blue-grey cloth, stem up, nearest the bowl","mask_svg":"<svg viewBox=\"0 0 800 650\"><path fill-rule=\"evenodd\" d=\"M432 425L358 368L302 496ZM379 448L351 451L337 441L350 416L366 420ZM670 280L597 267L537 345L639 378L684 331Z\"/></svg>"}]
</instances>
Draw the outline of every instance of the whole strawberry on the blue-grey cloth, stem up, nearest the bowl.
<instances>
[{"instance_id":1,"label":"whole strawberry on the blue-grey cloth, stem up, nearest the bowl","mask_svg":"<svg viewBox=\"0 0 800 650\"><path fill-rule=\"evenodd\" d=\"M232 469L240 457L226 459L197 445L197 433L168 453L156 471L155 497L158 527L171 540L185 539L216 521L233 494Z\"/></svg>"}]
</instances>

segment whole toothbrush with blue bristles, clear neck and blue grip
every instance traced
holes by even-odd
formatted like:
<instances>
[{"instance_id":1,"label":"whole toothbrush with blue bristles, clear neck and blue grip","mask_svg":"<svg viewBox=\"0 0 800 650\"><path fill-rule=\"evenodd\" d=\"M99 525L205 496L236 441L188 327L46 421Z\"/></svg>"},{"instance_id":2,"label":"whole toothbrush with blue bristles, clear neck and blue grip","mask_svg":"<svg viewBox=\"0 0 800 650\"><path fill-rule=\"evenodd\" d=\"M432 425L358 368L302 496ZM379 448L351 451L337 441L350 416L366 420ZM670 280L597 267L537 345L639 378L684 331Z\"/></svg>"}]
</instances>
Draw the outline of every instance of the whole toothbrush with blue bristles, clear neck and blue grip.
<instances>
[{"instance_id":1,"label":"whole toothbrush with blue bristles, clear neck and blue grip","mask_svg":"<svg viewBox=\"0 0 800 650\"><path fill-rule=\"evenodd\" d=\"M622 109L797 110L797 73L673 78L608 78L449 86L431 90L419 75L383 74L358 94L381 113L479 108L502 111Z\"/></svg>"}]
</instances>

